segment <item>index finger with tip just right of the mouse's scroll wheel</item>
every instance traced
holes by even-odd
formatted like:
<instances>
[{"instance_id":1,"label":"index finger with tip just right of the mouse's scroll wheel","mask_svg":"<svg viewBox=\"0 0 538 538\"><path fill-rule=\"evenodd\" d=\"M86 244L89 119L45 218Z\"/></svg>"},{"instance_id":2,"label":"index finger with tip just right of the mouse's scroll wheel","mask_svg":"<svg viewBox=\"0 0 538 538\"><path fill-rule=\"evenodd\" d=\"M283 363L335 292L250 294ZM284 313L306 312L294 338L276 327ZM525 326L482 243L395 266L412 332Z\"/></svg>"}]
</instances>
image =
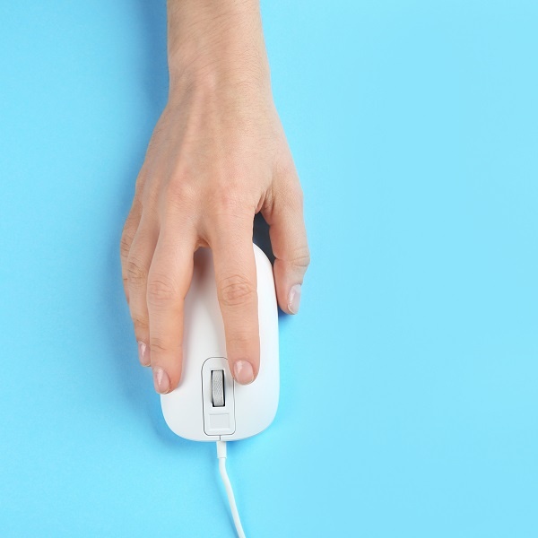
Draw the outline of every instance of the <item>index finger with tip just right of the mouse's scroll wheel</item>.
<instances>
[{"instance_id":1,"label":"index finger with tip just right of the mouse's scroll wheel","mask_svg":"<svg viewBox=\"0 0 538 538\"><path fill-rule=\"evenodd\" d=\"M210 238L226 352L233 377L252 383L260 365L253 216L232 216Z\"/></svg>"}]
</instances>

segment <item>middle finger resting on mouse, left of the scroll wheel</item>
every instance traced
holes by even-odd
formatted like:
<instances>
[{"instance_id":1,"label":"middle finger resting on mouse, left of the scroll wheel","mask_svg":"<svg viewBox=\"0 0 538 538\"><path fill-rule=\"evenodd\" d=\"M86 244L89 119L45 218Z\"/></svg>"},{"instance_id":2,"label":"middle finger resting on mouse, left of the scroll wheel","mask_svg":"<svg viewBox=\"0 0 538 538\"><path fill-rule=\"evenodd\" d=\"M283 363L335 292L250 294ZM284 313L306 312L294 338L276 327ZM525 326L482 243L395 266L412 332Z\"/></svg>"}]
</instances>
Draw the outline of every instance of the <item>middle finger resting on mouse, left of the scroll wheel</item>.
<instances>
[{"instance_id":1,"label":"middle finger resting on mouse, left of the scroll wheel","mask_svg":"<svg viewBox=\"0 0 538 538\"><path fill-rule=\"evenodd\" d=\"M178 225L163 227L147 283L153 384L160 394L181 377L184 301L193 273L194 234Z\"/></svg>"}]
</instances>

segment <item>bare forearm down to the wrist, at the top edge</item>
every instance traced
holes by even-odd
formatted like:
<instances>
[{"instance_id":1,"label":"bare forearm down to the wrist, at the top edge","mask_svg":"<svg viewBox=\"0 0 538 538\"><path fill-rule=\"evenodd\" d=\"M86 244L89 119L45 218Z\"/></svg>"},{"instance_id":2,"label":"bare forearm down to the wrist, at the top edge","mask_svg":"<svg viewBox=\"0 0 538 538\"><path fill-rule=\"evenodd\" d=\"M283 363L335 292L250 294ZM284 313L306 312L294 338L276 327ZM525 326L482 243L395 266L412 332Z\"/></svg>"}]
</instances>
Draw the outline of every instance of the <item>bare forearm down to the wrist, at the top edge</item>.
<instances>
[{"instance_id":1,"label":"bare forearm down to the wrist, at the top edge","mask_svg":"<svg viewBox=\"0 0 538 538\"><path fill-rule=\"evenodd\" d=\"M170 89L185 79L269 83L258 0L169 0Z\"/></svg>"}]
</instances>

